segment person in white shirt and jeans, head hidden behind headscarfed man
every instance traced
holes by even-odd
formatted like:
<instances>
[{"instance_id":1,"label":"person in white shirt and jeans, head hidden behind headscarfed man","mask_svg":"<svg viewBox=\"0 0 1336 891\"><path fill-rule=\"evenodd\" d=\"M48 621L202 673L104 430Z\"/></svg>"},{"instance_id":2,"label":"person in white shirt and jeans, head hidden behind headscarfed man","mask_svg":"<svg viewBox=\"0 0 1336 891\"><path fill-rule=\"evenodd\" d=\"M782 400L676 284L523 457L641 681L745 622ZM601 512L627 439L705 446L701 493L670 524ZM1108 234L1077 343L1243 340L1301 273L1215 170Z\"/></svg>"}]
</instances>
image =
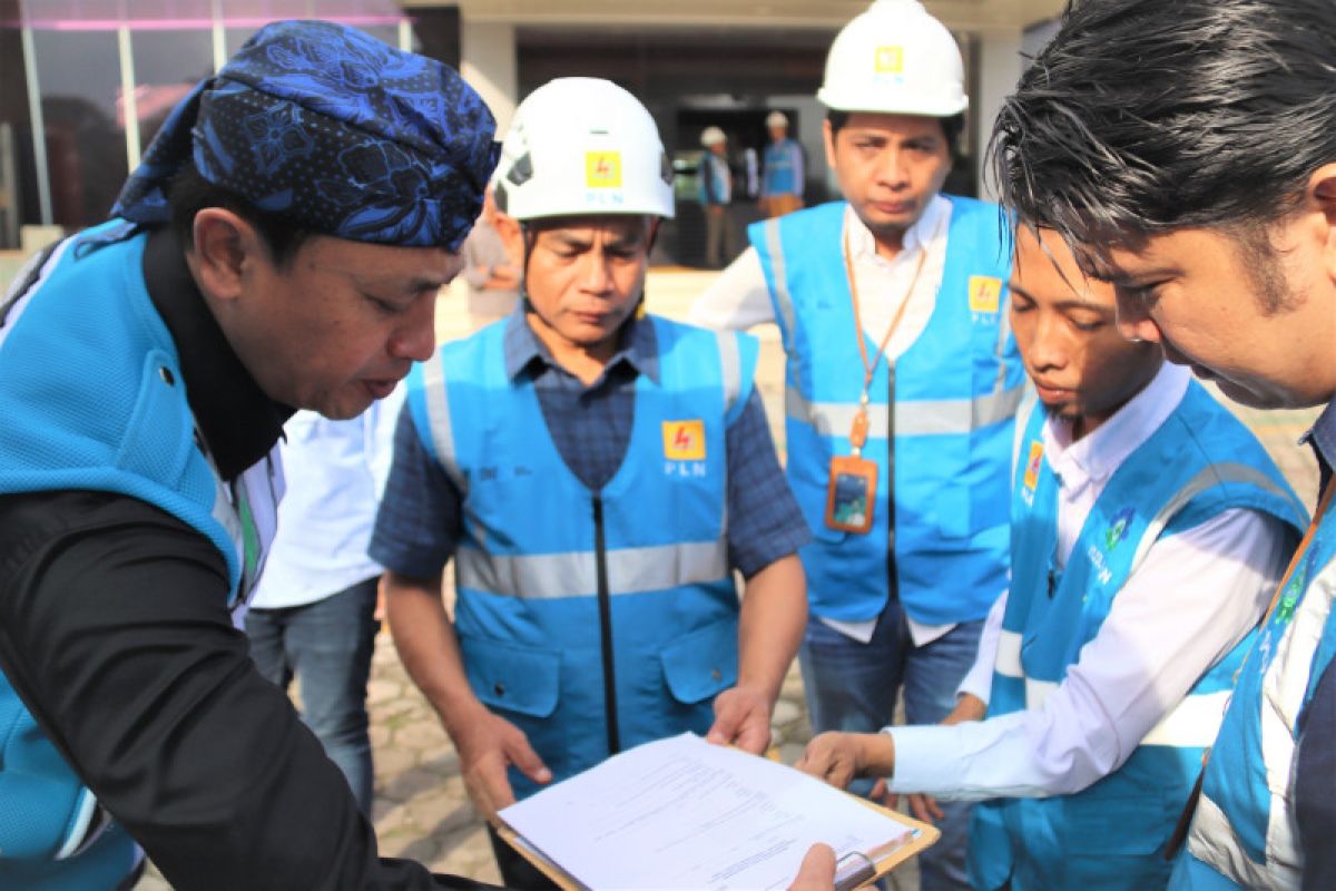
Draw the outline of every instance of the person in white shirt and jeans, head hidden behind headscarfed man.
<instances>
[{"instance_id":1,"label":"person in white shirt and jeans, head hidden behind headscarfed man","mask_svg":"<svg viewBox=\"0 0 1336 891\"><path fill-rule=\"evenodd\" d=\"M366 556L390 472L403 387L349 421L298 411L279 446L287 489L246 613L251 659L281 689L295 676L302 720L371 815L366 681L381 622L381 566Z\"/></svg>"}]
</instances>

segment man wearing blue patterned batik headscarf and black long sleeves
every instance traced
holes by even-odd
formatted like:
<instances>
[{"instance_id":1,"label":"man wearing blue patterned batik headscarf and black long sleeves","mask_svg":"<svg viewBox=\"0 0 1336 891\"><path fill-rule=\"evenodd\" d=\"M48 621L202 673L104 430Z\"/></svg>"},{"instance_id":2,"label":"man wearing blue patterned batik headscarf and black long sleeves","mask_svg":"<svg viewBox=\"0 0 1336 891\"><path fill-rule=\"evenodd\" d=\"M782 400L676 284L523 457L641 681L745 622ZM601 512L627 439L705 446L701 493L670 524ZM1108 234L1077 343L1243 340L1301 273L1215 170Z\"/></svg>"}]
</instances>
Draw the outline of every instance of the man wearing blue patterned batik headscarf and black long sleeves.
<instances>
[{"instance_id":1,"label":"man wearing blue patterned batik headscarf and black long sleeves","mask_svg":"<svg viewBox=\"0 0 1336 891\"><path fill-rule=\"evenodd\" d=\"M378 858L234 625L283 421L432 355L493 130L437 61L269 25L0 301L0 887L130 887L144 852L176 888L469 884Z\"/></svg>"}]
</instances>

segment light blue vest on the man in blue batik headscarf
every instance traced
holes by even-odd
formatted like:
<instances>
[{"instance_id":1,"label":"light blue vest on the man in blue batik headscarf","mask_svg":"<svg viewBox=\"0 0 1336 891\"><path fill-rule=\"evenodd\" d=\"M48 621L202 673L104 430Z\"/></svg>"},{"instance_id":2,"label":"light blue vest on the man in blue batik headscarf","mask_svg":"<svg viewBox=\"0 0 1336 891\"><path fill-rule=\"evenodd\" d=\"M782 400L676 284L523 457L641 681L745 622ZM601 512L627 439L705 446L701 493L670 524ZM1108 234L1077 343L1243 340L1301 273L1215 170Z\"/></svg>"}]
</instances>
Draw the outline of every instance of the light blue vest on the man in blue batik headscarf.
<instances>
[{"instance_id":1,"label":"light blue vest on the man in blue batik headscarf","mask_svg":"<svg viewBox=\"0 0 1336 891\"><path fill-rule=\"evenodd\" d=\"M4 319L0 494L91 489L152 504L218 548L235 598L246 536L231 493L195 445L176 346L144 286L144 242L136 235L91 252L64 242ZM263 542L251 538L254 576ZM0 676L0 888L115 887L140 854L115 823L81 842L95 810L92 792Z\"/></svg>"}]
</instances>

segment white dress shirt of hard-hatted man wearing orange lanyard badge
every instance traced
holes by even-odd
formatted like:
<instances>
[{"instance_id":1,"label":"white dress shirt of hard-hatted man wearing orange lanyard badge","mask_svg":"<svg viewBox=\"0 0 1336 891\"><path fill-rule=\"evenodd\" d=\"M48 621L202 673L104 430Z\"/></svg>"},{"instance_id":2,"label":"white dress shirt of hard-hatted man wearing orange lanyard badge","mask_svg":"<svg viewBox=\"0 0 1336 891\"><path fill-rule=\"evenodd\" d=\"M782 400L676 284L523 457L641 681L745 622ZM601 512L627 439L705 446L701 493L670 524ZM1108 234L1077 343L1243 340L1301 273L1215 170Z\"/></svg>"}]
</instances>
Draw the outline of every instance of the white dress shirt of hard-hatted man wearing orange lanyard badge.
<instances>
[{"instance_id":1,"label":"white dress shirt of hard-hatted man wearing orange lanyard badge","mask_svg":"<svg viewBox=\"0 0 1336 891\"><path fill-rule=\"evenodd\" d=\"M942 273L946 269L946 235L950 226L951 202L937 195L929 202L918 222L904 230L900 252L894 259L887 259L876 252L876 240L871 230L863 224L854 208L844 208L843 235L848 236L848 252L858 287L858 313L863 331L872 343L882 342L900 305L908 301L899 327L882 353L886 357L883 361L894 363L914 345L933 318L937 291L942 286ZM923 269L915 279L921 256ZM775 321L770 286L766 283L766 273L762 270L755 247L748 247L719 274L713 285L692 305L688 321L703 327L733 330ZM858 345L852 342L848 347L848 374L859 379L863 375ZM876 628L876 618L859 622L842 622L824 617L820 620L864 644L872 639L872 629ZM908 620L908 625L910 636L918 647L955 628L954 624L923 625L912 618Z\"/></svg>"}]
</instances>

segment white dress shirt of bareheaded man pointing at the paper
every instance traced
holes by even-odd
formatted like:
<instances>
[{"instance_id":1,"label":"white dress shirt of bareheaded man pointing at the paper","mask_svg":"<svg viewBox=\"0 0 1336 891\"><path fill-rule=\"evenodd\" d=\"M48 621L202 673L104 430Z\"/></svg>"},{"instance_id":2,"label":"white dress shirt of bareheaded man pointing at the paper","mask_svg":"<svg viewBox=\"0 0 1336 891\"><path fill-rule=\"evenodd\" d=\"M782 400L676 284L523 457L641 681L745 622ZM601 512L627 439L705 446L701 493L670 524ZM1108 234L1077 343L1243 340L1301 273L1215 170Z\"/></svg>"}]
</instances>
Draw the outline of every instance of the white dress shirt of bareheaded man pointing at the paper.
<instances>
[{"instance_id":1,"label":"white dress shirt of bareheaded man pointing at the paper","mask_svg":"<svg viewBox=\"0 0 1336 891\"><path fill-rule=\"evenodd\" d=\"M1109 477L1182 399L1186 369L1150 385L1089 435L1050 418L1045 457L1058 477L1057 558L1065 566ZM942 799L1078 792L1118 769L1210 665L1257 624L1293 542L1269 516L1230 509L1152 545L1094 639L1042 708L953 727L886 728L896 792ZM1003 596L961 687L987 701Z\"/></svg>"}]
</instances>

